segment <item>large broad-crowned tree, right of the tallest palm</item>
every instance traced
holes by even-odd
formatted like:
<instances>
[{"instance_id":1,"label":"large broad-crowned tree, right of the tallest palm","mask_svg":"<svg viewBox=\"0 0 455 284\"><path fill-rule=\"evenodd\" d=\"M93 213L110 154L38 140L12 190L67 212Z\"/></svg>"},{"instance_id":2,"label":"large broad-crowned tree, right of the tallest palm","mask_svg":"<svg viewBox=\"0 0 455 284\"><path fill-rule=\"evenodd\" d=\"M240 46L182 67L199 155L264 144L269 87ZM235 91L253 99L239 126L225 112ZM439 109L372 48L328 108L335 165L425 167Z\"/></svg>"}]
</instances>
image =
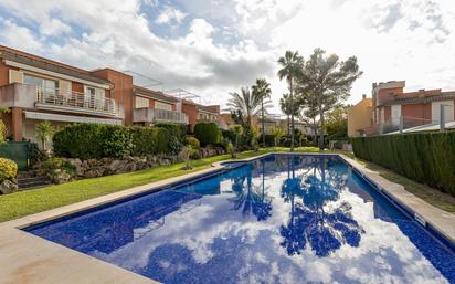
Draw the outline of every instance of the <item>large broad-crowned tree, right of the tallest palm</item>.
<instances>
[{"instance_id":1,"label":"large broad-crowned tree, right of the tallest palm","mask_svg":"<svg viewBox=\"0 0 455 284\"><path fill-rule=\"evenodd\" d=\"M336 54L325 54L324 50L316 49L305 63L297 82L301 92L311 92L317 97L321 125L320 149L324 149L325 112L345 101L349 96L352 83L362 75L356 56L340 61Z\"/></svg>"}]
</instances>

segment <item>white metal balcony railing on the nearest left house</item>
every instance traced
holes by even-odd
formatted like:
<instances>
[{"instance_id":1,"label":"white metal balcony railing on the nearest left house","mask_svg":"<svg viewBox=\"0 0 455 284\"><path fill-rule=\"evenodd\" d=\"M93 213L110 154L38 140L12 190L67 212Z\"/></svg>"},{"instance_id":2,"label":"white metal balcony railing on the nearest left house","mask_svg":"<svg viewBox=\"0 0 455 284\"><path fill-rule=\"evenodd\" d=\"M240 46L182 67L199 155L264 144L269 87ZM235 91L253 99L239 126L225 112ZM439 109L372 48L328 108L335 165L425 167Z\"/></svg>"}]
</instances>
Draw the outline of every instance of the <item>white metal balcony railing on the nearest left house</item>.
<instances>
[{"instance_id":1,"label":"white metal balcony railing on the nearest left house","mask_svg":"<svg viewBox=\"0 0 455 284\"><path fill-rule=\"evenodd\" d=\"M57 88L36 87L36 105L56 109L77 109L81 113L96 113L117 116L119 113L116 101L107 97L97 97L91 94Z\"/></svg>"}]
</instances>

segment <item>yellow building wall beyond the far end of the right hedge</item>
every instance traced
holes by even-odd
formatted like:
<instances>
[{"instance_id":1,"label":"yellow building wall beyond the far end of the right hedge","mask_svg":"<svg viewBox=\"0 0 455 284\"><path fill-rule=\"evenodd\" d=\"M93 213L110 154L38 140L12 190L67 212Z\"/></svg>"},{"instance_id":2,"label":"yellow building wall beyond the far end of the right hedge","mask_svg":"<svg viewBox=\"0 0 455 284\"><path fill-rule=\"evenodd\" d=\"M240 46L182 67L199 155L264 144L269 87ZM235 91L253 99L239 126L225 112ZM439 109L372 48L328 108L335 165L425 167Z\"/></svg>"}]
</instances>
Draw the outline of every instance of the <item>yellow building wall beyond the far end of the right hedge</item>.
<instances>
[{"instance_id":1,"label":"yellow building wall beyond the far end of the right hedge","mask_svg":"<svg viewBox=\"0 0 455 284\"><path fill-rule=\"evenodd\" d=\"M363 136L364 128L373 123L373 105L371 97L362 95L362 99L356 105L348 107L348 136Z\"/></svg>"}]
</instances>

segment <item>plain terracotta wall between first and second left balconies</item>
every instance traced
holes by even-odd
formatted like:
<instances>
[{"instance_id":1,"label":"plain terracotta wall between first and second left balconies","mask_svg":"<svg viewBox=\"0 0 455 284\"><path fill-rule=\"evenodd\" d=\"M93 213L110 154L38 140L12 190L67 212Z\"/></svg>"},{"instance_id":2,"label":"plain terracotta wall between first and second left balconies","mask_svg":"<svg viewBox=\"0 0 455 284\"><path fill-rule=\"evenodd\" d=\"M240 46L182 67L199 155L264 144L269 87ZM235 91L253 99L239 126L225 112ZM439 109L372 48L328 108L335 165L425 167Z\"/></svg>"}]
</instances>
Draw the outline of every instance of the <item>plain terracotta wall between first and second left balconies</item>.
<instances>
[{"instance_id":1,"label":"plain terracotta wall between first and second left balconies","mask_svg":"<svg viewBox=\"0 0 455 284\"><path fill-rule=\"evenodd\" d=\"M135 107L135 96L133 94L133 76L121 72L104 69L92 72L92 75L110 81L114 87L110 90L110 98L123 104L125 113L125 124L133 124L133 108Z\"/></svg>"}]
</instances>

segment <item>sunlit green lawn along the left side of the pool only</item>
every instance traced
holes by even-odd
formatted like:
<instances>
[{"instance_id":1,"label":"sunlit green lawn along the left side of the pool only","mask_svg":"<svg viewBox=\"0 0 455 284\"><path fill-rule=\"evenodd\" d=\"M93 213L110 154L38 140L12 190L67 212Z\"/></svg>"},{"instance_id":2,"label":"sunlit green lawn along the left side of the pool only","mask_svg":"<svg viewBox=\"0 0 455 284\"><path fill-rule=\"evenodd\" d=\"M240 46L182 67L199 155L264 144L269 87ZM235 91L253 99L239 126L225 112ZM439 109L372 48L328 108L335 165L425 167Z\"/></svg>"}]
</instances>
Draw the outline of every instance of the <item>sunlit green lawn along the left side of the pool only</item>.
<instances>
[{"instance_id":1,"label":"sunlit green lawn along the left side of the pool only","mask_svg":"<svg viewBox=\"0 0 455 284\"><path fill-rule=\"evenodd\" d=\"M272 151L287 151L287 148L267 148L258 151L245 151L237 158L248 158ZM317 148L303 147L299 151L318 151ZM149 182L181 176L191 171L210 167L215 161L230 159L230 155L215 156L192 161L192 170L182 170L183 164L160 166L156 168L106 176L93 179L83 179L57 186L21 191L0 196L0 222L17 219L23 215L42 212L53 208L75 203L91 198L113 193L123 189L142 186Z\"/></svg>"}]
</instances>

